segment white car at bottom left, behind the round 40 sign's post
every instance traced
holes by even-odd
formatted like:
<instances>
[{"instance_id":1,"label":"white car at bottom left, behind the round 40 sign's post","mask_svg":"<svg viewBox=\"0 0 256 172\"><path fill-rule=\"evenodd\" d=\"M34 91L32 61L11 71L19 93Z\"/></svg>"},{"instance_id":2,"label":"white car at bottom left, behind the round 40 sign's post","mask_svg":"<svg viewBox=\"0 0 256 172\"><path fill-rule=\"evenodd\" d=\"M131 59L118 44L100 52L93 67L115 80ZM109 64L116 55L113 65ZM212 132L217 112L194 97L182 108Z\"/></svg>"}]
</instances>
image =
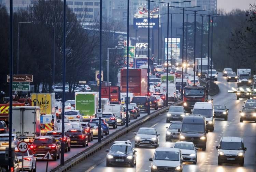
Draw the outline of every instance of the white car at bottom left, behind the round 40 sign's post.
<instances>
[{"instance_id":1,"label":"white car at bottom left, behind the round 40 sign's post","mask_svg":"<svg viewBox=\"0 0 256 172\"><path fill-rule=\"evenodd\" d=\"M15 149L15 154L18 160L22 160L22 153ZM36 164L37 158L33 155L33 152L28 149L27 152L24 153L24 160L23 160L23 168L24 171L36 171ZM22 169L22 162L19 162L19 169Z\"/></svg>"}]
</instances>

